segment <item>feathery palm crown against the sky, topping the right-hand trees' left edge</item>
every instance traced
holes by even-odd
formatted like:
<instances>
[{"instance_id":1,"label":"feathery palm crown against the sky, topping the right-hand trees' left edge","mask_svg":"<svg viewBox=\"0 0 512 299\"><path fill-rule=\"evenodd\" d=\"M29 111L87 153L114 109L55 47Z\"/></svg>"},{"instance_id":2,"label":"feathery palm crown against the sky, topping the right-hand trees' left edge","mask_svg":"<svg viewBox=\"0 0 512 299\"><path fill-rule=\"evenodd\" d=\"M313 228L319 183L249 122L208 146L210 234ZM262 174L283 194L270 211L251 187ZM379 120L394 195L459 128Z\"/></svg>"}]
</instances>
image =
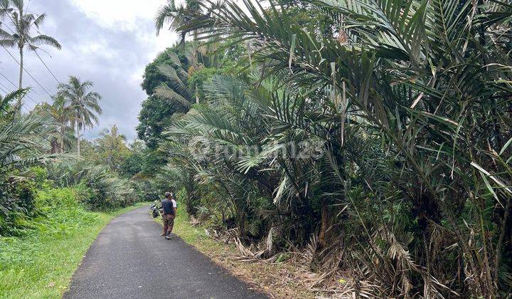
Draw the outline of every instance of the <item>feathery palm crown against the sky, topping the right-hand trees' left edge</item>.
<instances>
[{"instance_id":1,"label":"feathery palm crown against the sky, topping the right-hand trees' left edge","mask_svg":"<svg viewBox=\"0 0 512 299\"><path fill-rule=\"evenodd\" d=\"M201 11L198 0L185 0L185 4L176 6L174 0L168 0L167 4L162 6L155 16L156 35L159 35L165 23L169 23L169 30L176 30L191 21L188 15ZM181 41L185 42L185 36L188 32L181 31ZM197 31L194 30L193 38L197 38Z\"/></svg>"}]
</instances>

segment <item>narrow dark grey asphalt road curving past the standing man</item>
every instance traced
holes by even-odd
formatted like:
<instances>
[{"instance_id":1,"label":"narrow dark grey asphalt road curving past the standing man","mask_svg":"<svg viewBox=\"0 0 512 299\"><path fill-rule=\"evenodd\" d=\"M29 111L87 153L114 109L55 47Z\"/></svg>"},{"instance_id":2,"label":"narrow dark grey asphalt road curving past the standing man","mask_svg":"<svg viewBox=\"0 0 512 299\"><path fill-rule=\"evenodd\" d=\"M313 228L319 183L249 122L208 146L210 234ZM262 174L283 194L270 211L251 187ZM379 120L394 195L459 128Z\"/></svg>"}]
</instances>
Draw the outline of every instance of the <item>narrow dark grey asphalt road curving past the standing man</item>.
<instances>
[{"instance_id":1,"label":"narrow dark grey asphalt road curving past the standing man","mask_svg":"<svg viewBox=\"0 0 512 299\"><path fill-rule=\"evenodd\" d=\"M160 233L147 206L114 218L64 298L267 298L177 236L166 240Z\"/></svg>"}]
</instances>

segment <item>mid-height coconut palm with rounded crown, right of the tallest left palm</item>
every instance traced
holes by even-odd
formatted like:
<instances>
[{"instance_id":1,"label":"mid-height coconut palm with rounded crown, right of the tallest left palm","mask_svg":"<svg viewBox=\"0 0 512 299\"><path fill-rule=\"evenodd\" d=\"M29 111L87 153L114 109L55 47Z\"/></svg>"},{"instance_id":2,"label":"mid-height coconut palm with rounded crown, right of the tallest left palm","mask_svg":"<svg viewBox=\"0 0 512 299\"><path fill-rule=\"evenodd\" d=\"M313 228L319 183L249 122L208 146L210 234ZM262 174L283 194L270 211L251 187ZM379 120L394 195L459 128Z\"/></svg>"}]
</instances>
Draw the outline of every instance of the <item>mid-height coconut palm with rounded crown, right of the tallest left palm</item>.
<instances>
[{"instance_id":1,"label":"mid-height coconut palm with rounded crown, right of the tallest left palm","mask_svg":"<svg viewBox=\"0 0 512 299\"><path fill-rule=\"evenodd\" d=\"M102 97L99 93L89 91L92 86L91 81L82 82L75 76L70 76L68 83L58 86L57 95L63 97L68 103L68 109L73 113L70 122L75 127L78 156L80 156L80 131L85 130L86 127L94 127L98 122L97 115L102 113L98 103Z\"/></svg>"}]
</instances>

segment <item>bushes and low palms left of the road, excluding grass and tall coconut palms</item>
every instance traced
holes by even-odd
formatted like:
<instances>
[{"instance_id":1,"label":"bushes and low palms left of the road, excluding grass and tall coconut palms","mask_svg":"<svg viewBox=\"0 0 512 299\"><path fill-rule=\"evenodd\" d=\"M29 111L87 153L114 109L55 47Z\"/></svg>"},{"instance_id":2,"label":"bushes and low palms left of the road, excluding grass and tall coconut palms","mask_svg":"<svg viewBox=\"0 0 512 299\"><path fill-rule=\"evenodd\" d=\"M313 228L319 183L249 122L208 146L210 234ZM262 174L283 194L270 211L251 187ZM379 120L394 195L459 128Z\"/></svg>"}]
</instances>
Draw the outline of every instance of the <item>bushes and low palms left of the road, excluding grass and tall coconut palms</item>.
<instances>
[{"instance_id":1,"label":"bushes and low palms left of the road, excluding grass and tall coconut palms","mask_svg":"<svg viewBox=\"0 0 512 299\"><path fill-rule=\"evenodd\" d=\"M80 149L78 122L92 125L90 120L97 117L85 116L91 113L87 103L56 96L53 103L42 103L23 113L20 106L9 103L26 91L6 95L0 112L1 236L23 234L24 229L33 228L30 219L45 215L49 206L46 201L37 201L38 196L51 189L75 190L79 196L68 197L89 209L116 209L137 201L137 184L120 169L134 151L127 147L117 127L106 130L94 142L85 142L90 145L82 149L85 159L76 152ZM77 106L85 108L85 114L80 115Z\"/></svg>"}]
</instances>

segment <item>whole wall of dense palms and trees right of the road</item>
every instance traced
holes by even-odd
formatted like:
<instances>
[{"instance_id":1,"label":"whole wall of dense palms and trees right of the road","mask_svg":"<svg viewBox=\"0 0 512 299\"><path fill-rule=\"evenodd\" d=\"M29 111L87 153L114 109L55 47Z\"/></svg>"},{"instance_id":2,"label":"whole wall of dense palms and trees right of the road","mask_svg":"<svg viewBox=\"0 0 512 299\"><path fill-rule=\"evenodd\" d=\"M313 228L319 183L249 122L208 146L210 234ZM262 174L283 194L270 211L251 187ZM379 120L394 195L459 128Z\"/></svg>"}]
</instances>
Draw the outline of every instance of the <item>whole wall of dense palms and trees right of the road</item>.
<instances>
[{"instance_id":1,"label":"whole wall of dense palms and trees right of the road","mask_svg":"<svg viewBox=\"0 0 512 299\"><path fill-rule=\"evenodd\" d=\"M158 12L183 41L146 68L154 187L359 295L510 293L512 6L262 5Z\"/></svg>"}]
</instances>

